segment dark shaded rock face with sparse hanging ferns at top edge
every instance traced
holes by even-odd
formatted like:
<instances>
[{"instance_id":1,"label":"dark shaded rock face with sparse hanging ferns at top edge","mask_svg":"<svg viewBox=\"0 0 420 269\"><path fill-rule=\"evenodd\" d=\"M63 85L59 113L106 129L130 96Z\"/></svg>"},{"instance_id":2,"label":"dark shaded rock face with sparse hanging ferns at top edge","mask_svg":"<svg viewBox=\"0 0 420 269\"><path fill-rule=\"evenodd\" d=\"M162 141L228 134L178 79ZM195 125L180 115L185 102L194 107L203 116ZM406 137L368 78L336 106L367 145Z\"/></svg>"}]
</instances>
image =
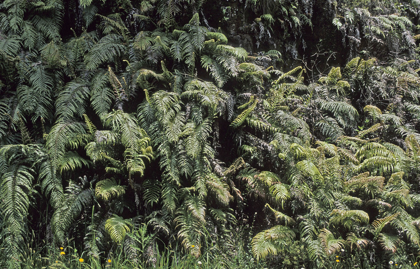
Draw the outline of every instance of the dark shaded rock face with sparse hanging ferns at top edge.
<instances>
[{"instance_id":1,"label":"dark shaded rock face with sparse hanging ferns at top edge","mask_svg":"<svg viewBox=\"0 0 420 269\"><path fill-rule=\"evenodd\" d=\"M337 10L334 2L262 2L207 1L202 8L203 25L222 31L233 46L250 54L276 49L286 65L295 65L296 59L308 66L311 61L345 64L349 50L342 32L331 23Z\"/></svg>"}]
</instances>

